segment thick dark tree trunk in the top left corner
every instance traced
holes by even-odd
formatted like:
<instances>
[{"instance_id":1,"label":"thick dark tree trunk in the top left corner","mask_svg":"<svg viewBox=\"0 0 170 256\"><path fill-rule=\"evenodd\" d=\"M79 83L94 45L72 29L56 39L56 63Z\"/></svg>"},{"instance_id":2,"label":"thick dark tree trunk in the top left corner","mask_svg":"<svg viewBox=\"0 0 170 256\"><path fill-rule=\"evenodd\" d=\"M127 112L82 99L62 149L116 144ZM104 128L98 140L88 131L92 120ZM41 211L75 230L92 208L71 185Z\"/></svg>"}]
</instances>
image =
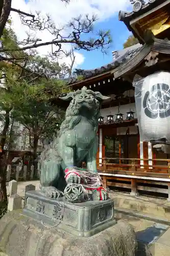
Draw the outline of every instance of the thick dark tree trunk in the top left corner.
<instances>
[{"instance_id":1,"label":"thick dark tree trunk in the top left corner","mask_svg":"<svg viewBox=\"0 0 170 256\"><path fill-rule=\"evenodd\" d=\"M11 11L12 0L0 0L0 38L7 23Z\"/></svg>"}]
</instances>

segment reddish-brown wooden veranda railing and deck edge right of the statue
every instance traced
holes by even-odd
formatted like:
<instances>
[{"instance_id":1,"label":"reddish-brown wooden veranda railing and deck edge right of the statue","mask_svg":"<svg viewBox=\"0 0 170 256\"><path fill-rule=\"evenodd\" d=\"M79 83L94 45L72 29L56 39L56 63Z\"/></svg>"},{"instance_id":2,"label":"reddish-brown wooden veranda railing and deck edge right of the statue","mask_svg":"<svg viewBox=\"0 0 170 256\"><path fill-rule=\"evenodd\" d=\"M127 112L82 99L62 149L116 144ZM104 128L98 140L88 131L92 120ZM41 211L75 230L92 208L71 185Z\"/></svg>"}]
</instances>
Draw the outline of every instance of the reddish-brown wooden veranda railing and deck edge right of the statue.
<instances>
[{"instance_id":1,"label":"reddish-brown wooden veranda railing and deck edge right of the statue","mask_svg":"<svg viewBox=\"0 0 170 256\"><path fill-rule=\"evenodd\" d=\"M96 160L105 188L129 189L134 196L141 190L167 194L170 200L170 159L100 158ZM162 164L155 164L156 162Z\"/></svg>"}]
</instances>

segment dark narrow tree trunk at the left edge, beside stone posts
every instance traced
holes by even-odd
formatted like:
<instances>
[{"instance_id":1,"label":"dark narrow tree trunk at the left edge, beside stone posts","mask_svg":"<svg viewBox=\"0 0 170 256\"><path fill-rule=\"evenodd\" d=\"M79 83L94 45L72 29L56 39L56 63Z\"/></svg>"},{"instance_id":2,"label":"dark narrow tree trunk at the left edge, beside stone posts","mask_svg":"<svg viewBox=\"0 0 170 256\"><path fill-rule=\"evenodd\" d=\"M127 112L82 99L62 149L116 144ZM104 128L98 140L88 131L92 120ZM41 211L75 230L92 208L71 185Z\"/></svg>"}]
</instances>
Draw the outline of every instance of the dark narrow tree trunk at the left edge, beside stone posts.
<instances>
[{"instance_id":1,"label":"dark narrow tree trunk at the left edge, beside stone posts","mask_svg":"<svg viewBox=\"0 0 170 256\"><path fill-rule=\"evenodd\" d=\"M7 138L7 132L10 124L10 110L6 111L5 124L0 141L0 218L5 214L8 207L7 188L6 188L6 158L4 146Z\"/></svg>"}]
</instances>

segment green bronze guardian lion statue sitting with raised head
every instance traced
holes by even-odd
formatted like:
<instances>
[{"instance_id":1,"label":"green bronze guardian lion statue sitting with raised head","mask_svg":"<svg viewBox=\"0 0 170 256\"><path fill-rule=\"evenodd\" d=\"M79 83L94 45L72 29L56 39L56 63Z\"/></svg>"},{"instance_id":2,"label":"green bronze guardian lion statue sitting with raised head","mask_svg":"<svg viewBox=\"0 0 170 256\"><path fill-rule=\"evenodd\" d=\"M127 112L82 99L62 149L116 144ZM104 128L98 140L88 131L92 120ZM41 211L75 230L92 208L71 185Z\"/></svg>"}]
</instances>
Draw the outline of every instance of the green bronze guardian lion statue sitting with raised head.
<instances>
[{"instance_id":1,"label":"green bronze guardian lion statue sitting with raised head","mask_svg":"<svg viewBox=\"0 0 170 256\"><path fill-rule=\"evenodd\" d=\"M49 197L56 198L58 190L66 186L64 170L67 167L81 167L86 162L88 170L96 171L96 153L98 151L98 119L100 101L109 99L100 92L83 87L60 97L71 100L60 127L60 133L53 143L41 154L39 161L40 187ZM78 183L78 177L70 177Z\"/></svg>"}]
</instances>

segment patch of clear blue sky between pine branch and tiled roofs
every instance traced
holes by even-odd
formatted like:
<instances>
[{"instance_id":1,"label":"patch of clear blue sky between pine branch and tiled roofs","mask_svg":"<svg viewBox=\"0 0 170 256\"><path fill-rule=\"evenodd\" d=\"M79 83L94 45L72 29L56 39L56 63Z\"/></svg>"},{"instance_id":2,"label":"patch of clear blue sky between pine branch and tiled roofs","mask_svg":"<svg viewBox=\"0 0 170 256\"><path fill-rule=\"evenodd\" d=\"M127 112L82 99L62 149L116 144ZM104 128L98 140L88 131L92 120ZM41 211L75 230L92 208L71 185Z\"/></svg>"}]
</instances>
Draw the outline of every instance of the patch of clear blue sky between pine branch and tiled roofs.
<instances>
[{"instance_id":1,"label":"patch of clear blue sky between pine branch and tiled roofs","mask_svg":"<svg viewBox=\"0 0 170 256\"><path fill-rule=\"evenodd\" d=\"M123 48L123 44L130 35L129 30L123 22L118 20L118 13L113 17L105 20L104 22L99 22L95 25L96 30L106 30L111 31L112 43L107 50L107 54L103 54L100 50L86 52L84 50L80 51L84 56L85 60L81 66L81 69L95 69L106 65L112 61L112 51L120 50Z\"/></svg>"}]
</instances>

